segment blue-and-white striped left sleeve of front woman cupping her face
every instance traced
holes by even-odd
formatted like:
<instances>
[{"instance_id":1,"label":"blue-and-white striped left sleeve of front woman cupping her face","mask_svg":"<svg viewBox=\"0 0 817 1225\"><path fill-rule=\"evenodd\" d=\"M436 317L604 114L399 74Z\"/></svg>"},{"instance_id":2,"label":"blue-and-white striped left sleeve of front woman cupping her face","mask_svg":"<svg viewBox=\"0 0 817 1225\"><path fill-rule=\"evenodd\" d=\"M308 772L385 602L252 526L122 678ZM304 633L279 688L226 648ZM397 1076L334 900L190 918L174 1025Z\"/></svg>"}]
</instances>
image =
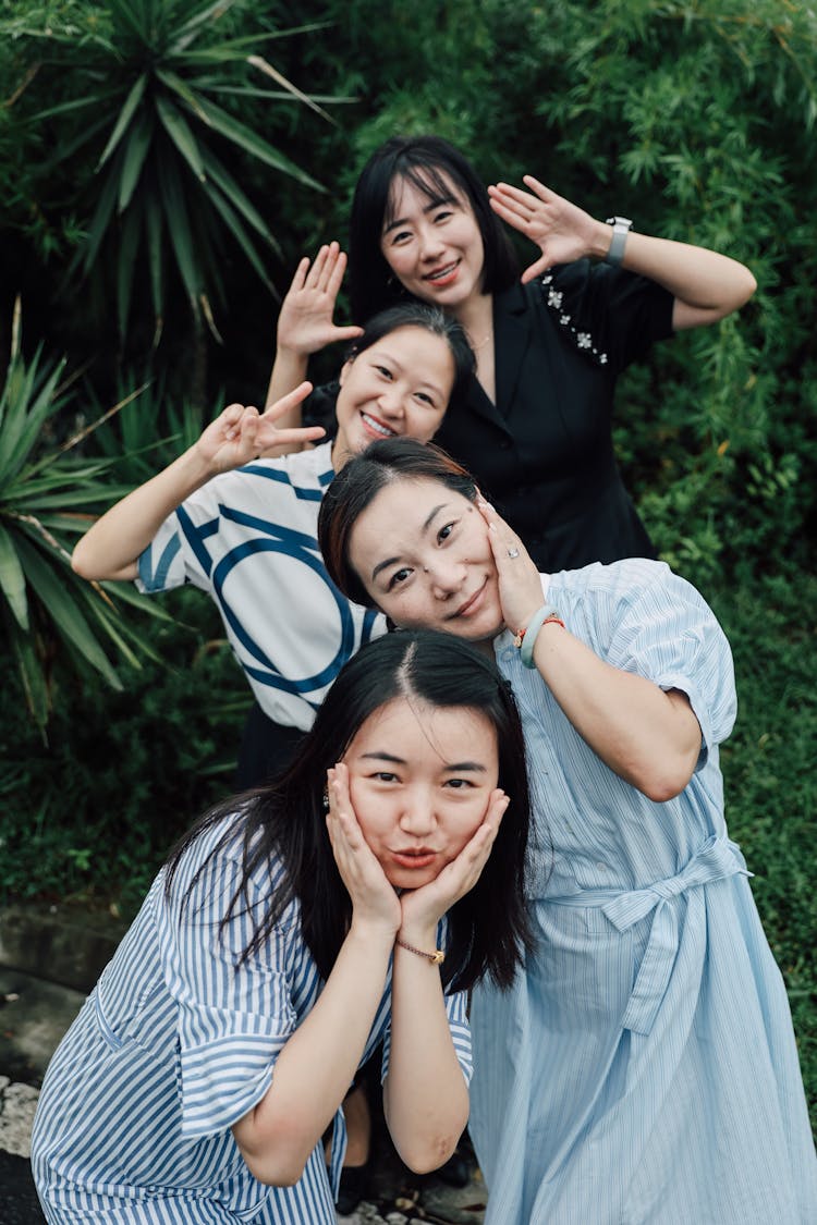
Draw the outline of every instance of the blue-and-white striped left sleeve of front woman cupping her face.
<instances>
[{"instance_id":1,"label":"blue-and-white striped left sleeve of front woman cupping her face","mask_svg":"<svg viewBox=\"0 0 817 1225\"><path fill-rule=\"evenodd\" d=\"M261 1100L296 1028L287 973L290 943L300 931L295 907L262 952L241 962L266 899L251 892L249 907L239 900L219 932L240 878L240 858L220 850L197 880L186 867L174 881L162 931L163 970L176 1005L183 1133L189 1137L224 1131Z\"/></svg>"}]
</instances>

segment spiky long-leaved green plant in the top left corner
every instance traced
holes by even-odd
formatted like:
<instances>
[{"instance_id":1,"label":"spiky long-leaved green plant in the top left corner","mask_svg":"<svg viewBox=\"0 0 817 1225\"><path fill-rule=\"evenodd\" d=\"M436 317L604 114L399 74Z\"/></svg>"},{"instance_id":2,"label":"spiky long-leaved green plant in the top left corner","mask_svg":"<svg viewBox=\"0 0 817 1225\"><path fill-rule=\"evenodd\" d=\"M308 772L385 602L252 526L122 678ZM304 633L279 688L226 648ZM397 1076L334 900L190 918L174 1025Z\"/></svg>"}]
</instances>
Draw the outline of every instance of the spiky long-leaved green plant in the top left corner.
<instances>
[{"instance_id":1,"label":"spiky long-leaved green plant in the top left corner","mask_svg":"<svg viewBox=\"0 0 817 1225\"><path fill-rule=\"evenodd\" d=\"M37 80L39 88L49 83L61 98L32 116L40 130L51 126L58 146L44 173L81 151L98 152L88 184L91 216L71 272L113 272L121 334L140 272L149 283L158 330L169 277L180 279L195 318L213 326L213 299L224 296L225 239L269 285L263 251L276 247L274 235L224 154L249 156L322 190L222 104L247 92L277 102L294 98L328 119L254 54L258 34L239 37L224 28L245 9L241 0L108 0L104 6L73 5L70 24L61 27L31 16L0 22L0 34L28 49L28 64L21 56L18 93L24 81ZM247 89L247 70L277 88Z\"/></svg>"}]
</instances>

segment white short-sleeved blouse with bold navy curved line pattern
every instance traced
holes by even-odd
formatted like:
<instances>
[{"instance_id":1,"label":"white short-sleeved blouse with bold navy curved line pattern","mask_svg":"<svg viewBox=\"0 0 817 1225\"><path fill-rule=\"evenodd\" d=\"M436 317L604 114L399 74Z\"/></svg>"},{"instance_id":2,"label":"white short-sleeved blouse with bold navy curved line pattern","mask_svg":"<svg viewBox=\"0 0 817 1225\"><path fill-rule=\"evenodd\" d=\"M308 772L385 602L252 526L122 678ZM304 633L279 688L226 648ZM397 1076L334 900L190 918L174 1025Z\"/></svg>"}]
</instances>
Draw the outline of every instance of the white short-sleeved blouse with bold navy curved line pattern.
<instances>
[{"instance_id":1,"label":"white short-sleeved blouse with bold navy curved line pattern","mask_svg":"<svg viewBox=\"0 0 817 1225\"><path fill-rule=\"evenodd\" d=\"M317 548L331 447L207 481L164 521L136 582L148 594L183 583L207 592L262 710L301 731L347 659L386 630L341 595Z\"/></svg>"}]
</instances>

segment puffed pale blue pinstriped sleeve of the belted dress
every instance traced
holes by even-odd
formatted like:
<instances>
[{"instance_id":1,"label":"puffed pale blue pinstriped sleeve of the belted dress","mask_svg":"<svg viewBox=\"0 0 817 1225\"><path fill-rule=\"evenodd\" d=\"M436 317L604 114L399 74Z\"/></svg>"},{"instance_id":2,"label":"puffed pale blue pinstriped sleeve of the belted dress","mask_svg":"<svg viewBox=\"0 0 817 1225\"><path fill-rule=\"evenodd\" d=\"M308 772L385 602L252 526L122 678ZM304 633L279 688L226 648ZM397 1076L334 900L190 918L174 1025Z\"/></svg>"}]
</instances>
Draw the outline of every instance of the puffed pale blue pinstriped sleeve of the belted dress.
<instances>
[{"instance_id":1,"label":"puffed pale blue pinstriped sleeve of the belted dress","mask_svg":"<svg viewBox=\"0 0 817 1225\"><path fill-rule=\"evenodd\" d=\"M701 725L702 752L721 744L735 723L737 701L731 650L712 609L686 579L663 562L639 565L649 581L630 586L606 655L663 690L686 693Z\"/></svg>"}]
</instances>

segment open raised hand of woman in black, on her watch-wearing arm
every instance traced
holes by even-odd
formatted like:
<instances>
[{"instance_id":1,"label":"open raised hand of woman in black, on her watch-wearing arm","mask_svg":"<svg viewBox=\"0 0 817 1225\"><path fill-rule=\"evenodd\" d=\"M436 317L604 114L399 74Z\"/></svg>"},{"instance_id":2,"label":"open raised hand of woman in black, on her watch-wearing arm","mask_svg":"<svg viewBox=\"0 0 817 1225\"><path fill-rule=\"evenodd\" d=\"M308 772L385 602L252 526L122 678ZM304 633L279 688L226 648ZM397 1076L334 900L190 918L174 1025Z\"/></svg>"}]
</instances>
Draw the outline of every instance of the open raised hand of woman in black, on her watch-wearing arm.
<instances>
[{"instance_id":1,"label":"open raised hand of woman in black, on her watch-wearing arm","mask_svg":"<svg viewBox=\"0 0 817 1225\"><path fill-rule=\"evenodd\" d=\"M541 250L540 258L522 273L524 283L540 277L555 263L571 263L589 255L594 250L594 240L598 243L601 223L570 200L557 196L533 175L523 175L522 181L529 191L507 183L497 183L488 191L496 216Z\"/></svg>"}]
</instances>

